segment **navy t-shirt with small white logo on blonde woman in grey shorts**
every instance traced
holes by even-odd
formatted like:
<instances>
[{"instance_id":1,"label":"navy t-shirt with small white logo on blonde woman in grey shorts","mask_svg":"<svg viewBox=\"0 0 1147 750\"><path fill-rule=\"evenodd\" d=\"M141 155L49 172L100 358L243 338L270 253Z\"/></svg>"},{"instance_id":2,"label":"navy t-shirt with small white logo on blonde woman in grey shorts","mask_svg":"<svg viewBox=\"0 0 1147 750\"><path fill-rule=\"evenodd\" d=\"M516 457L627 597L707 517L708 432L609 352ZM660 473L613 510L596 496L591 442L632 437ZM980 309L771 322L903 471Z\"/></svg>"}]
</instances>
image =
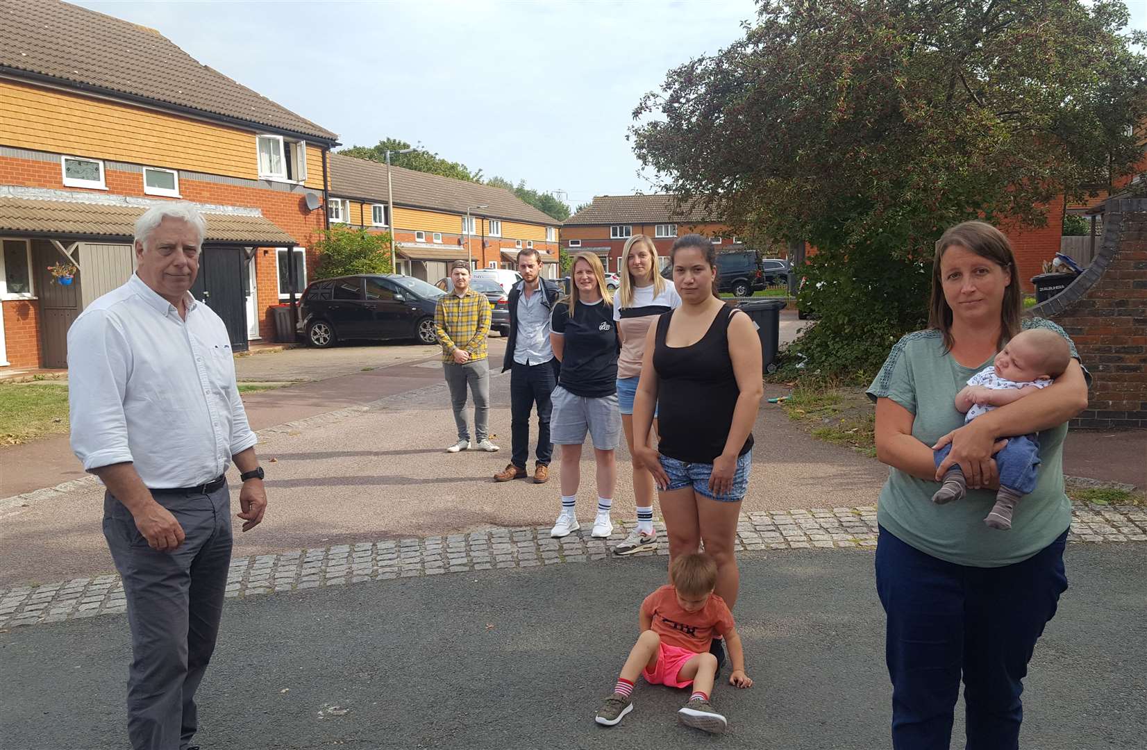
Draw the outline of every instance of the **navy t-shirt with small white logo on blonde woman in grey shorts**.
<instances>
[{"instance_id":1,"label":"navy t-shirt with small white logo on blonde woman in grey shorts","mask_svg":"<svg viewBox=\"0 0 1147 750\"><path fill-rule=\"evenodd\" d=\"M617 323L604 300L554 305L551 330L565 339L562 375L557 384L575 396L604 398L617 392Z\"/></svg>"}]
</instances>

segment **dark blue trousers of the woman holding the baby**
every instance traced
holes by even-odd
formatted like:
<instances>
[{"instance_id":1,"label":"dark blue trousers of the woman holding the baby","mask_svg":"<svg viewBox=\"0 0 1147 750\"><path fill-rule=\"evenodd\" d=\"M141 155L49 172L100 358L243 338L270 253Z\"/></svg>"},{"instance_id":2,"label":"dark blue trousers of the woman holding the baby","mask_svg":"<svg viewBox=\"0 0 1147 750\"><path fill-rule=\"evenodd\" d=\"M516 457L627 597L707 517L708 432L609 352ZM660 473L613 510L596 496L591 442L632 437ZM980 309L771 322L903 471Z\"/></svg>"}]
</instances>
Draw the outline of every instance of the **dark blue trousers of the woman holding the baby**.
<instances>
[{"instance_id":1,"label":"dark blue trousers of the woman holding the baby","mask_svg":"<svg viewBox=\"0 0 1147 750\"><path fill-rule=\"evenodd\" d=\"M1067 531L1023 562L972 568L881 528L876 592L888 615L895 750L947 750L961 674L967 750L1020 747L1028 662L1068 587L1066 544Z\"/></svg>"}]
</instances>

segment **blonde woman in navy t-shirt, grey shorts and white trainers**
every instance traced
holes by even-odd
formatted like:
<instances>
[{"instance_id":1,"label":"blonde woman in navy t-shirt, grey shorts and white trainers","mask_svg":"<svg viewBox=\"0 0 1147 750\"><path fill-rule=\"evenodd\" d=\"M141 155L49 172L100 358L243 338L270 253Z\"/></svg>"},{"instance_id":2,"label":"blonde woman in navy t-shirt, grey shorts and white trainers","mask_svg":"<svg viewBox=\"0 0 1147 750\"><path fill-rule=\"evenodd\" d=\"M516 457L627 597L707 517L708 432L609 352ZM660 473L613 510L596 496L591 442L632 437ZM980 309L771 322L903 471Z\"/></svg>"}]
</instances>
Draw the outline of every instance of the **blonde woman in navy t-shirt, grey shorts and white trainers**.
<instances>
[{"instance_id":1,"label":"blonde woman in navy t-shirt, grey shorts and white trainers","mask_svg":"<svg viewBox=\"0 0 1147 750\"><path fill-rule=\"evenodd\" d=\"M579 252L572 273L570 295L554 305L551 317L549 342L562 364L549 417L549 438L561 446L562 510L549 536L565 537L579 528L575 503L582 483L582 444L588 433L598 468L598 515L591 536L604 539L614 532L609 509L617 485L615 454L622 432L617 411L617 325L598 256Z\"/></svg>"}]
</instances>

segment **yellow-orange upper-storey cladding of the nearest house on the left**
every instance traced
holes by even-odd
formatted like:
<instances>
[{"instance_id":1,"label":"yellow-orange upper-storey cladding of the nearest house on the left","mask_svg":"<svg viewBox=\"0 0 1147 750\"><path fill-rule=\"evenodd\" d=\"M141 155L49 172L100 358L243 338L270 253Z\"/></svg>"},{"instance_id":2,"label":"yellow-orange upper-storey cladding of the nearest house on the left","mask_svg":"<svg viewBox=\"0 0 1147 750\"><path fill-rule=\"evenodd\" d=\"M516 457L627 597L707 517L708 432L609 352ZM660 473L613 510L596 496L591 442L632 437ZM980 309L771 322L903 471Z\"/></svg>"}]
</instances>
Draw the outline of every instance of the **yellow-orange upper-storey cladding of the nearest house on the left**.
<instances>
[{"instance_id":1,"label":"yellow-orange upper-storey cladding of the nearest house on the left","mask_svg":"<svg viewBox=\"0 0 1147 750\"><path fill-rule=\"evenodd\" d=\"M0 143L258 179L253 131L0 80ZM322 189L322 150L307 146L306 185Z\"/></svg>"}]
</instances>

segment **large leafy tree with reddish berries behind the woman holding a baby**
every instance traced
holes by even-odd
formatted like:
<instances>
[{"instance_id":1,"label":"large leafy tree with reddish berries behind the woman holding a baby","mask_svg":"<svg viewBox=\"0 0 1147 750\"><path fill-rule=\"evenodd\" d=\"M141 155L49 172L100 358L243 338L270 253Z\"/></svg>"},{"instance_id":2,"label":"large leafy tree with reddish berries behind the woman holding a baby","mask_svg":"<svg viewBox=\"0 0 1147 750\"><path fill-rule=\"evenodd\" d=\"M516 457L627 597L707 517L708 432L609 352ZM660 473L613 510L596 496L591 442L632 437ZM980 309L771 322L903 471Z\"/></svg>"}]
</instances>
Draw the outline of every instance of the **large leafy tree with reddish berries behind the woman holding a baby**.
<instances>
[{"instance_id":1,"label":"large leafy tree with reddish berries behind the woman holding a baby","mask_svg":"<svg viewBox=\"0 0 1147 750\"><path fill-rule=\"evenodd\" d=\"M1132 171L1141 32L1118 0L764 0L717 55L634 111L662 188L817 248L790 354L865 378L926 320L934 243L958 221L1046 222Z\"/></svg>"}]
</instances>

